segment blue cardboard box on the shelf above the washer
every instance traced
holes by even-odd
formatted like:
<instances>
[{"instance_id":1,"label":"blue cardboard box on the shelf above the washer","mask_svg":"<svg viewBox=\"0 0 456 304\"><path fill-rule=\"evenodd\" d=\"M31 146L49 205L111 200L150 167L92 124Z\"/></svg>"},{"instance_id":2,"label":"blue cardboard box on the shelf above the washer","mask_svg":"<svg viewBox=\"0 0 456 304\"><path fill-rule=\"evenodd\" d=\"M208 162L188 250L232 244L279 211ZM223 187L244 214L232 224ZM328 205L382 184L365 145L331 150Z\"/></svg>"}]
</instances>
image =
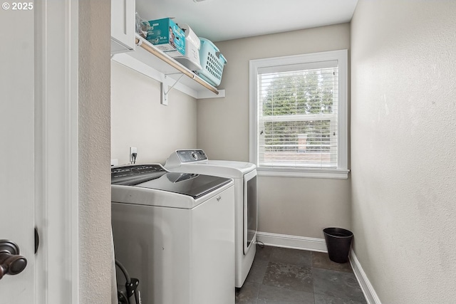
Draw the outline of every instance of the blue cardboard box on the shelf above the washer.
<instances>
[{"instance_id":1,"label":"blue cardboard box on the shelf above the washer","mask_svg":"<svg viewBox=\"0 0 456 304\"><path fill-rule=\"evenodd\" d=\"M185 33L170 18L149 21L147 41L170 56L185 55Z\"/></svg>"}]
</instances>

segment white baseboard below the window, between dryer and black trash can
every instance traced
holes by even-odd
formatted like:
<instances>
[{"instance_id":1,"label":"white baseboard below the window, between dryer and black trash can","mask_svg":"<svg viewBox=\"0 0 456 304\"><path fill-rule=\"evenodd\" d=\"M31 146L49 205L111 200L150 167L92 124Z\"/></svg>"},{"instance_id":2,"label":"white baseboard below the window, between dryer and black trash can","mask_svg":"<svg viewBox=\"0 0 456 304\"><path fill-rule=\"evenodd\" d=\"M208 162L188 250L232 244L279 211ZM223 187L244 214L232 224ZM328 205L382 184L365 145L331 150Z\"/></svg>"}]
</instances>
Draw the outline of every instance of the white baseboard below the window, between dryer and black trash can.
<instances>
[{"instance_id":1,"label":"white baseboard below the window, between dryer and black trash can","mask_svg":"<svg viewBox=\"0 0 456 304\"><path fill-rule=\"evenodd\" d=\"M309 251L328 252L324 239L306 238L304 236L288 236L286 234L269 234L268 232L257 232L257 241L265 245L302 249Z\"/></svg>"}]
</instances>

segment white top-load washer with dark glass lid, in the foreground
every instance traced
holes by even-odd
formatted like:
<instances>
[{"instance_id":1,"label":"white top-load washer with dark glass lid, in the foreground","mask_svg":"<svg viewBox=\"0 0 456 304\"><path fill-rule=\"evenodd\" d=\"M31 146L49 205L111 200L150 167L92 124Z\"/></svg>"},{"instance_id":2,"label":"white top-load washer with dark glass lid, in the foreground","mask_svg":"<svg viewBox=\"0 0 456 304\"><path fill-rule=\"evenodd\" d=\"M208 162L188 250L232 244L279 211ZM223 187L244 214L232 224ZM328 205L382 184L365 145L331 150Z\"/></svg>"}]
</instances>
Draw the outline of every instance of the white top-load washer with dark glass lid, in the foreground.
<instances>
[{"instance_id":1,"label":"white top-load washer with dark glass lid, in the foreground","mask_svg":"<svg viewBox=\"0 0 456 304\"><path fill-rule=\"evenodd\" d=\"M232 179L113 167L111 196L115 258L142 303L234 304Z\"/></svg>"}]
</instances>

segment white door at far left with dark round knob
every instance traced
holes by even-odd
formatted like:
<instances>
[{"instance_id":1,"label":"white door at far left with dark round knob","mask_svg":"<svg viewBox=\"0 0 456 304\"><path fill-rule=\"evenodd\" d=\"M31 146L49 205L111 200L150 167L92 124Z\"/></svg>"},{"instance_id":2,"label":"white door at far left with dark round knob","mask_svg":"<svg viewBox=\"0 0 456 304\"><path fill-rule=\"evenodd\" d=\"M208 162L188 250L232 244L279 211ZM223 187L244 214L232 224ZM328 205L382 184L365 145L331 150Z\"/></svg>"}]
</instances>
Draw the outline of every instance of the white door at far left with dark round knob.
<instances>
[{"instance_id":1,"label":"white door at far left with dark round knob","mask_svg":"<svg viewBox=\"0 0 456 304\"><path fill-rule=\"evenodd\" d=\"M33 1L0 9L0 239L28 265L0 280L0 304L34 303L34 14ZM30 4L30 6L29 6Z\"/></svg>"}]
</instances>

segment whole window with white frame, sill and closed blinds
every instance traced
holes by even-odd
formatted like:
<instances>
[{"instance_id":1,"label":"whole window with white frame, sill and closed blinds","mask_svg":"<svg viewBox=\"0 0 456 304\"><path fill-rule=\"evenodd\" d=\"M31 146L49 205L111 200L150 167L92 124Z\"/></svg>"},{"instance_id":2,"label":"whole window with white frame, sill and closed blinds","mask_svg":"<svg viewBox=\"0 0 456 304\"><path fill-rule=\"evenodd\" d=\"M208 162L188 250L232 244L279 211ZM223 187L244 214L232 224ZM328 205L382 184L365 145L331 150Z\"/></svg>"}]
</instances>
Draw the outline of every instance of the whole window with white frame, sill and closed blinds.
<instances>
[{"instance_id":1,"label":"whole window with white frame, sill and closed blinds","mask_svg":"<svg viewBox=\"0 0 456 304\"><path fill-rule=\"evenodd\" d=\"M347 177L347 56L250 61L250 161L260 175Z\"/></svg>"}]
</instances>

